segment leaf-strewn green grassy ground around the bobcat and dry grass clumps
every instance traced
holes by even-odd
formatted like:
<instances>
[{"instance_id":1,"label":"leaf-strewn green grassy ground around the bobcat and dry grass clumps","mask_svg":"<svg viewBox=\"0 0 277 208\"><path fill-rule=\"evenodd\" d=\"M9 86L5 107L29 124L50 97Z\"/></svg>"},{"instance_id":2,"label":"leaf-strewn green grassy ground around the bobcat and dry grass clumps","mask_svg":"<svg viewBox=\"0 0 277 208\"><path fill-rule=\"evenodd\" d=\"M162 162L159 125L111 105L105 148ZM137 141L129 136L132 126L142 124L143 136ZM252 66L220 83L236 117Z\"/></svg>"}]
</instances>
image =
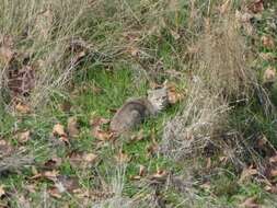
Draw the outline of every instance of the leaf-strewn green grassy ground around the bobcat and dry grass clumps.
<instances>
[{"instance_id":1,"label":"leaf-strewn green grassy ground around the bobcat and dry grass clumps","mask_svg":"<svg viewBox=\"0 0 277 208\"><path fill-rule=\"evenodd\" d=\"M222 135L227 132L235 132L232 139L238 139L235 143L239 145L231 143L223 149L222 146L208 147L182 160L163 154L160 146L164 142L165 125L188 106L186 101L191 101L192 95L188 80L204 79L201 73L194 72L197 71L194 67L203 63L195 63L195 57L197 60L201 53L192 53L199 47L197 43L201 43L198 38L204 37L203 22L208 20L209 24L217 25L216 20L227 20L222 11L226 7L230 7L226 10L234 18L235 10L243 13L246 5L236 1L215 2L213 5L206 1L176 0L166 8L162 1L120 1L118 7L108 0L91 4L84 1L83 4L89 3L91 8L88 11L76 9L79 19L72 21L74 25L67 22L68 27L62 28L62 21L57 23L56 20L50 32L54 35L46 41L38 38L39 46L47 43L50 49L37 50L32 65L43 58L48 61L48 57L53 58L64 48L55 44L69 33L64 31L66 28L70 28L70 33L76 31L69 36L84 39L85 47L68 55L78 61L65 82L65 71L58 70L62 65L55 61L61 61L59 57L65 62L67 59L56 55L55 61L45 60L45 68L53 68L49 76L53 84L49 81L46 88L43 82L35 91L39 94L43 91L39 89L50 89L45 96L34 95L25 97L24 103L12 104L5 89L0 88L4 91L0 101L0 207L277 207L276 154L273 151L277 145L277 3L255 2L253 9L251 1L245 1L254 18L240 25L239 31L245 47L254 54L247 68L254 71L255 84L265 89L272 102L270 109L263 107L267 106L263 103L267 100L263 100L264 94L257 90L251 91L246 102L236 104L230 99L233 94L224 96L230 109L223 119L228 124L222 124L220 139L224 139ZM59 11L55 1L51 3L54 8L49 11ZM73 5L76 1L65 3ZM19 8L23 10L24 7ZM69 8L61 11L67 13ZM223 14L219 15L218 10ZM95 13L90 13L92 11ZM59 15L62 16L62 12ZM49 16L49 12L45 16ZM12 26L7 26L3 15L0 20L1 25L5 24L3 33L8 33ZM245 30L249 24L254 34ZM39 33L46 33L45 25L43 28ZM19 33L15 30L11 35ZM32 51L35 50L37 45L31 37L22 41L16 36L15 48L21 51L30 44ZM268 73L270 86L265 85ZM62 84L55 84L59 78ZM174 104L130 134L114 138L108 131L108 120L115 111L127 99L146 96L147 90L165 80L174 89L173 95L178 97ZM224 82L228 81L222 84ZM235 90L231 92L236 93ZM45 99L34 102L33 97ZM234 153L229 154L228 150ZM5 158L16 155L15 152L20 152L18 158L7 160L14 166L5 170ZM16 165L25 157L34 161ZM240 160L235 160L236 157Z\"/></svg>"}]
</instances>

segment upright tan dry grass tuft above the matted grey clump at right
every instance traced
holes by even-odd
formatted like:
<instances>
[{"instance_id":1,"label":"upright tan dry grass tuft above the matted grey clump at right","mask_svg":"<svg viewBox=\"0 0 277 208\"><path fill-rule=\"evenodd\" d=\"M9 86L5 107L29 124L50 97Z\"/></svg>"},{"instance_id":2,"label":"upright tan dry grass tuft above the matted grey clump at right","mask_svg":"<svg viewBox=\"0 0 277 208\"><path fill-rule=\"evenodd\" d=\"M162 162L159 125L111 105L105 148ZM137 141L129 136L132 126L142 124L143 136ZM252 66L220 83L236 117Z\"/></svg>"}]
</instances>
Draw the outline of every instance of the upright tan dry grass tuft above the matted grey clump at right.
<instances>
[{"instance_id":1,"label":"upright tan dry grass tuft above the matted grey clump at right","mask_svg":"<svg viewBox=\"0 0 277 208\"><path fill-rule=\"evenodd\" d=\"M211 93L230 100L249 99L256 84L251 70L252 55L242 36L234 14L206 20L199 36L194 72L205 80Z\"/></svg>"}]
</instances>

